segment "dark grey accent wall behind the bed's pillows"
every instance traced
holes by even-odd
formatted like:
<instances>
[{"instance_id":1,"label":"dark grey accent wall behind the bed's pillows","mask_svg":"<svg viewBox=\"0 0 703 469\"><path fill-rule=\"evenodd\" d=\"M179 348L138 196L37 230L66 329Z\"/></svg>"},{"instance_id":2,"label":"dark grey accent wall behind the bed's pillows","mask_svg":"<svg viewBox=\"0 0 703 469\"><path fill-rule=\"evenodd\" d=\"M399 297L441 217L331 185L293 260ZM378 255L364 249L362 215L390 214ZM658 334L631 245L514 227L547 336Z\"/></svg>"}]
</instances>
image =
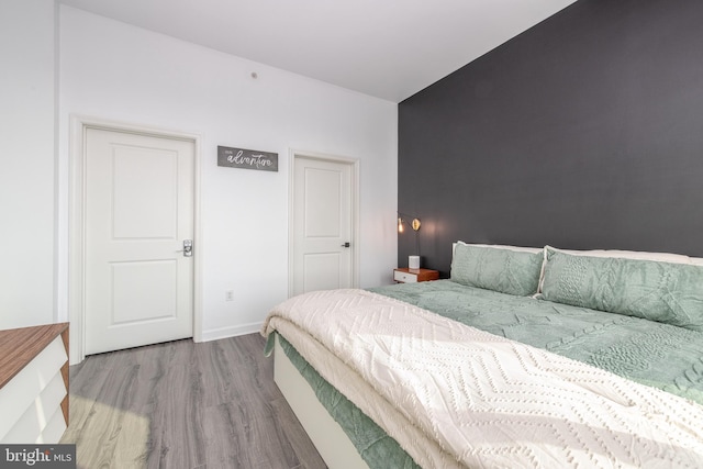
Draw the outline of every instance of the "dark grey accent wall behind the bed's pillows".
<instances>
[{"instance_id":1,"label":"dark grey accent wall behind the bed's pillows","mask_svg":"<svg viewBox=\"0 0 703 469\"><path fill-rule=\"evenodd\" d=\"M703 257L702 25L699 0L579 0L401 102L423 267L456 239Z\"/></svg>"}]
</instances>

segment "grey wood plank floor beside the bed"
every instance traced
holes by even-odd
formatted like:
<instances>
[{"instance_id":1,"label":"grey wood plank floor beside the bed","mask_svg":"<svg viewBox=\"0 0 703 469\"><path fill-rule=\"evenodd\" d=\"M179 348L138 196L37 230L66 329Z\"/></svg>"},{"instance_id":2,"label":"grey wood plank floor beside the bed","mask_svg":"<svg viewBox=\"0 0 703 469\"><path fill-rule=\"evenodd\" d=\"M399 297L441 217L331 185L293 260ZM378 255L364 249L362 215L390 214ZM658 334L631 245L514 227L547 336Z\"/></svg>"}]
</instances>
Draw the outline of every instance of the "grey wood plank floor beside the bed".
<instances>
[{"instance_id":1,"label":"grey wood plank floor beside the bed","mask_svg":"<svg viewBox=\"0 0 703 469\"><path fill-rule=\"evenodd\" d=\"M190 339L70 368L78 467L325 468L274 383L264 338Z\"/></svg>"}]
</instances>

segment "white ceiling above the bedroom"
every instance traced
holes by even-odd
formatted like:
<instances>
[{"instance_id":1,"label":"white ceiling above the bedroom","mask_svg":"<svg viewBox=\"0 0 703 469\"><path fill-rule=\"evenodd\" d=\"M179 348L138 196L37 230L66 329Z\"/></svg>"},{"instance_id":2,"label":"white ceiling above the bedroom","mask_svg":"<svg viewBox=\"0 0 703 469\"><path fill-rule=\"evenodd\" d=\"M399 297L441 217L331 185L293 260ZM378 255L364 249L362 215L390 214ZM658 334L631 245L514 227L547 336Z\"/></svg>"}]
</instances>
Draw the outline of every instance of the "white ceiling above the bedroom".
<instances>
[{"instance_id":1,"label":"white ceiling above the bedroom","mask_svg":"<svg viewBox=\"0 0 703 469\"><path fill-rule=\"evenodd\" d=\"M576 0L59 0L400 102Z\"/></svg>"}]
</instances>

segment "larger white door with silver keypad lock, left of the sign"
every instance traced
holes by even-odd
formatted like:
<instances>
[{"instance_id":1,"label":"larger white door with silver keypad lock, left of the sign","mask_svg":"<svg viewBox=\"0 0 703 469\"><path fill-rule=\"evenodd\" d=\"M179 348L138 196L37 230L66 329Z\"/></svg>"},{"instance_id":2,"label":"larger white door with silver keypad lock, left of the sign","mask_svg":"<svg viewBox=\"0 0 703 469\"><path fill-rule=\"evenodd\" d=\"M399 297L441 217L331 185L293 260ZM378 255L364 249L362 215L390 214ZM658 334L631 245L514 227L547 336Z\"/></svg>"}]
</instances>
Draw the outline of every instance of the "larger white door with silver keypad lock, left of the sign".
<instances>
[{"instance_id":1,"label":"larger white door with silver keypad lock, left of the sign","mask_svg":"<svg viewBox=\"0 0 703 469\"><path fill-rule=\"evenodd\" d=\"M194 144L86 134L86 354L191 337ZM193 253L198 255L199 253Z\"/></svg>"}]
</instances>

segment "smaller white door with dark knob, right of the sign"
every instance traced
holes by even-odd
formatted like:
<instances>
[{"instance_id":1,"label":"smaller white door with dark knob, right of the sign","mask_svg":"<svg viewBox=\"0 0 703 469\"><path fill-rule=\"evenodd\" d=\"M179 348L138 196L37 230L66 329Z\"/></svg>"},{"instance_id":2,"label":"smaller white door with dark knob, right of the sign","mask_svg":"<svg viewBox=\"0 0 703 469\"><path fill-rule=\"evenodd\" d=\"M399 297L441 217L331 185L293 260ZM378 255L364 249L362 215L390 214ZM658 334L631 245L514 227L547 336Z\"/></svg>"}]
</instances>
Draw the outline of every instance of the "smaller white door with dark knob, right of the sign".
<instances>
[{"instance_id":1,"label":"smaller white door with dark knob, right of the sign","mask_svg":"<svg viewBox=\"0 0 703 469\"><path fill-rule=\"evenodd\" d=\"M295 156L293 166L293 294L352 288L352 165Z\"/></svg>"}]
</instances>

